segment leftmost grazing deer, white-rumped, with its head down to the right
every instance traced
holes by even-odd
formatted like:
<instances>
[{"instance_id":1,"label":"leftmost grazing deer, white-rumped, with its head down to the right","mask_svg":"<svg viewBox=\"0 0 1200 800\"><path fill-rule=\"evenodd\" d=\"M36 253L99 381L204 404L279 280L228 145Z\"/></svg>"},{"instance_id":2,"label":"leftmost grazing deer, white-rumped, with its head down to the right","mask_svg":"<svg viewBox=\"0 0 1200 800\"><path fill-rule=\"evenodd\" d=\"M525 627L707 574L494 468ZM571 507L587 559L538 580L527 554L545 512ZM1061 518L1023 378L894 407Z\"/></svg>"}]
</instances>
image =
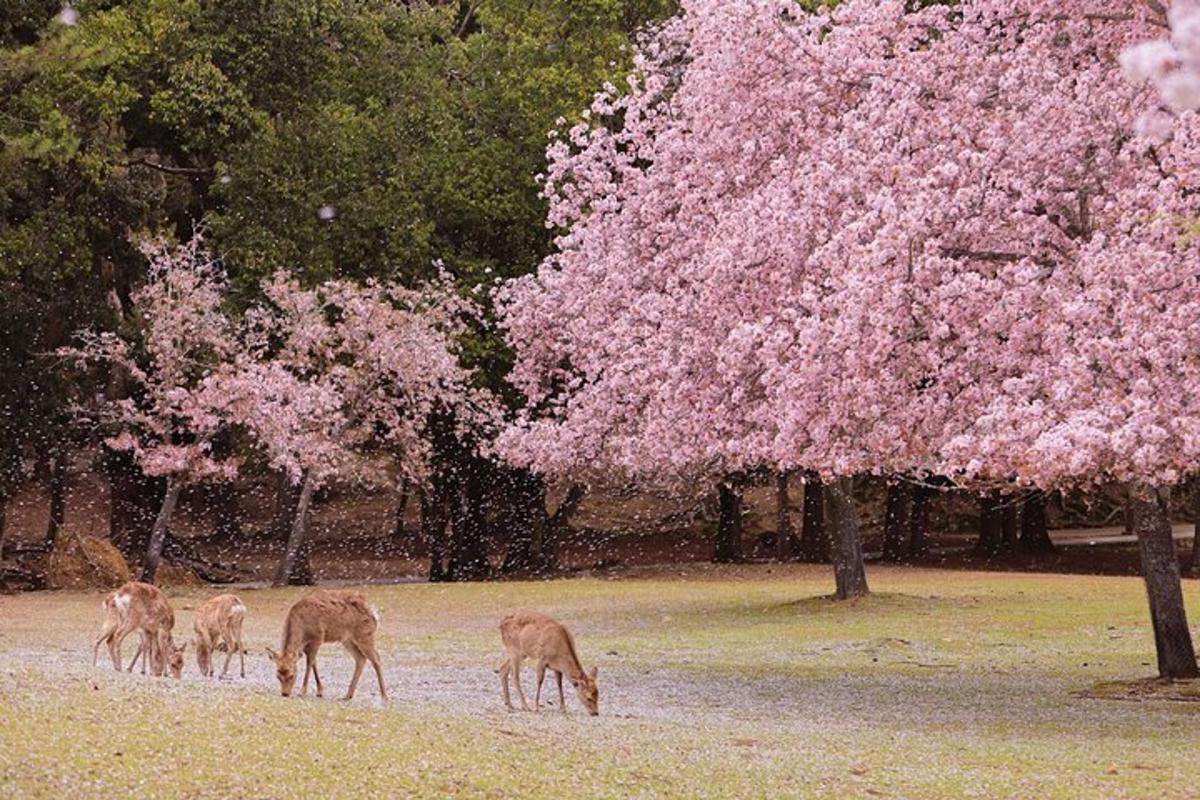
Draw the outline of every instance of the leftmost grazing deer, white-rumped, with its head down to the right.
<instances>
[{"instance_id":1,"label":"leftmost grazing deer, white-rumped, with its head down to the right","mask_svg":"<svg viewBox=\"0 0 1200 800\"><path fill-rule=\"evenodd\" d=\"M167 595L149 583L137 581L126 583L112 595L112 606L119 625L108 636L108 651L113 657L113 668L121 669L121 642L134 631L142 638L142 644L133 660L130 672L138 656L142 656L142 673L145 674L149 662L150 673L163 675L170 673L179 678L184 672L184 650L187 644L175 646L172 628L175 627L175 612L167 601ZM108 599L104 600L106 608ZM108 619L106 619L106 626Z\"/></svg>"}]
</instances>

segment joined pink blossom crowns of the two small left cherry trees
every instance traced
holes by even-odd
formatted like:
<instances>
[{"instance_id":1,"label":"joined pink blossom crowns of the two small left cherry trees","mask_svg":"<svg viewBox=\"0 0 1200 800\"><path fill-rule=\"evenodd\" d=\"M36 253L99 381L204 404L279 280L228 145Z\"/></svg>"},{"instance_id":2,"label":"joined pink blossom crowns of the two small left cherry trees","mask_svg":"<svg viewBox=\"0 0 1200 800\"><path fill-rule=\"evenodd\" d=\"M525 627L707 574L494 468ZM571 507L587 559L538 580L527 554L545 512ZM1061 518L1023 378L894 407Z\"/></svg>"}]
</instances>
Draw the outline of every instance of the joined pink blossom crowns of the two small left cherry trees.
<instances>
[{"instance_id":1,"label":"joined pink blossom crowns of the two small left cherry trees","mask_svg":"<svg viewBox=\"0 0 1200 800\"><path fill-rule=\"evenodd\" d=\"M233 477L236 459L218 458L212 445L238 428L295 481L378 477L372 453L420 481L436 410L463 425L494 420L491 396L458 363L476 309L445 277L420 290L348 281L306 289L278 272L235 320L199 237L155 243L146 255L149 277L133 296L137 336L85 332L68 355L130 378L128 397L101 403L116 429L108 444L149 475Z\"/></svg>"}]
</instances>

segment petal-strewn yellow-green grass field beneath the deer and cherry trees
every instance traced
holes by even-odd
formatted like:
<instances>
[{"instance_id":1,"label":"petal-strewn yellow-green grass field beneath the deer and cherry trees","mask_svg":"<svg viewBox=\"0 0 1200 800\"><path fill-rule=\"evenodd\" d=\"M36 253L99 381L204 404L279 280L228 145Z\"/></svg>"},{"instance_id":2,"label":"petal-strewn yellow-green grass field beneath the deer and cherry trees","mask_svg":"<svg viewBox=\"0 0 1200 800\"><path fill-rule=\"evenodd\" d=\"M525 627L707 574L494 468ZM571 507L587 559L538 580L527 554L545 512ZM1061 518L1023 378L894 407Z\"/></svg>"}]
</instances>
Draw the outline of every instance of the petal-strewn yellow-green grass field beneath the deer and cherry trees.
<instances>
[{"instance_id":1,"label":"petal-strewn yellow-green grass field beneath the deer and cherry trees","mask_svg":"<svg viewBox=\"0 0 1200 800\"><path fill-rule=\"evenodd\" d=\"M242 591L246 680L92 668L98 594L0 599L5 798L1195 798L1200 703L1099 699L1153 674L1134 578L688 567L366 591L392 702L323 651L282 698L263 648L296 590ZM1200 619L1200 584L1186 584ZM176 633L214 590L178 594ZM496 625L546 610L599 664L601 716L506 712ZM1200 631L1196 631L1200 633ZM132 648L127 646L132 655ZM218 662L220 666L220 662ZM523 672L532 699L533 672ZM548 684L547 684L548 685ZM1177 697L1200 694L1195 687Z\"/></svg>"}]
</instances>

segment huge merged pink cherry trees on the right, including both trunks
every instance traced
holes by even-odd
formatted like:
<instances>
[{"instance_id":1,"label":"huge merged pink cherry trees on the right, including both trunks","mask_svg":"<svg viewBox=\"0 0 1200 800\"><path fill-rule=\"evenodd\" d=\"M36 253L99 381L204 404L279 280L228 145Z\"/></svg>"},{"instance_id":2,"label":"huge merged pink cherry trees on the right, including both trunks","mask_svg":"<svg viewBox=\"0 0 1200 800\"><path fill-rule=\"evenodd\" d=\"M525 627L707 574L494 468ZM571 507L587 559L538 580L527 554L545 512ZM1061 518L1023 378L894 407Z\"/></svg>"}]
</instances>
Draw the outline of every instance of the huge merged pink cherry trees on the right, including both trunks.
<instances>
[{"instance_id":1,"label":"huge merged pink cherry trees on the right, including both trunks","mask_svg":"<svg viewBox=\"0 0 1200 800\"><path fill-rule=\"evenodd\" d=\"M532 407L503 446L547 471L817 470L842 564L856 474L1117 481L1159 670L1195 674L1164 495L1200 447L1196 131L1150 136L1159 100L1120 76L1164 24L1116 0L684 2L550 146L563 234L499 297Z\"/></svg>"}]
</instances>

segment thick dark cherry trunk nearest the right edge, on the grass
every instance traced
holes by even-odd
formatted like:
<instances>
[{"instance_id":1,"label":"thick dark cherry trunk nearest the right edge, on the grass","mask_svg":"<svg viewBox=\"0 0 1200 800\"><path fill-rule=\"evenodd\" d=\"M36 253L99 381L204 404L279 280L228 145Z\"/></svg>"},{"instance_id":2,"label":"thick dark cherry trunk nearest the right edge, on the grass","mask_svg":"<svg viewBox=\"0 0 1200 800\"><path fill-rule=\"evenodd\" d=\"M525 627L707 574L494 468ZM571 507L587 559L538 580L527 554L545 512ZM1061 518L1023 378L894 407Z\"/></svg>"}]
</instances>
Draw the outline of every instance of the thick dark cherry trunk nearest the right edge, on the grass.
<instances>
[{"instance_id":1,"label":"thick dark cherry trunk nearest the right edge, on the grass","mask_svg":"<svg viewBox=\"0 0 1200 800\"><path fill-rule=\"evenodd\" d=\"M1180 560L1171 536L1165 492L1150 486L1132 486L1129 512L1150 600L1158 674L1160 678L1200 678L1183 608Z\"/></svg>"}]
</instances>

